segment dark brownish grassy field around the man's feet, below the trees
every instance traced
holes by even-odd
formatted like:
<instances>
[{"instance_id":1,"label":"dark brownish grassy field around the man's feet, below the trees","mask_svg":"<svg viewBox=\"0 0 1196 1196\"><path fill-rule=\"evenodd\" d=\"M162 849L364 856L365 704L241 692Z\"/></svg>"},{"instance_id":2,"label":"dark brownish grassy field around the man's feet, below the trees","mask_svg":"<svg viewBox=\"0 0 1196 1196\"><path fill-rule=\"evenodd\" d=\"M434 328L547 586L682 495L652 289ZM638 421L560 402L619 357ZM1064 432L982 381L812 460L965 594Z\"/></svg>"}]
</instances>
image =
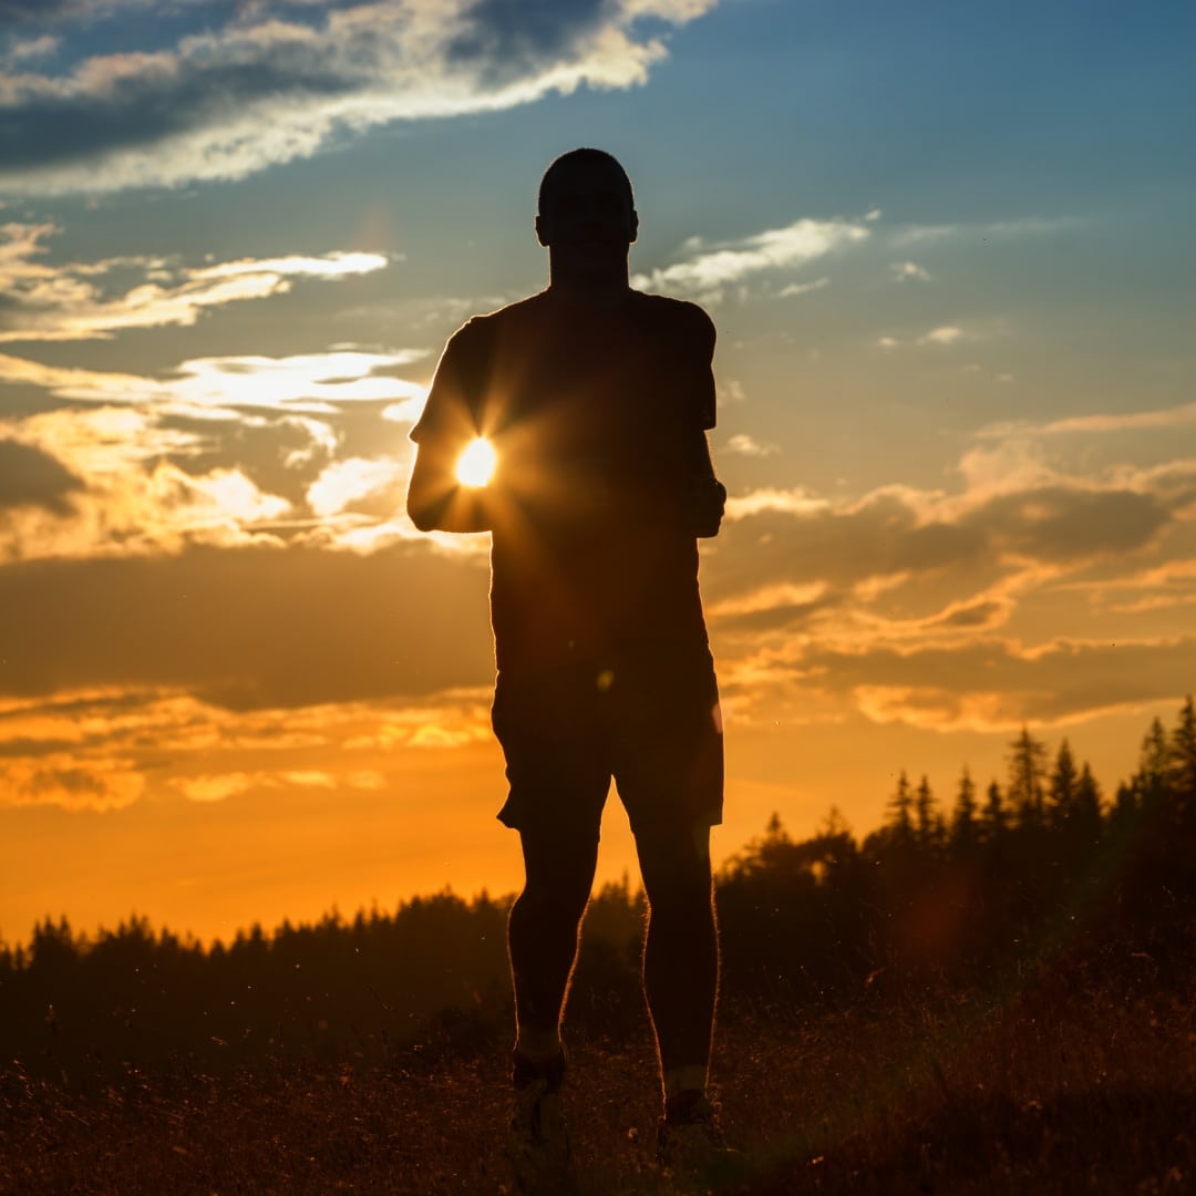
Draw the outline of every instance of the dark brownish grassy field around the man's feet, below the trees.
<instances>
[{"instance_id":1,"label":"dark brownish grassy field around the man's feet, below the trees","mask_svg":"<svg viewBox=\"0 0 1196 1196\"><path fill-rule=\"evenodd\" d=\"M725 1008L715 1078L751 1161L742 1190L1196 1191L1196 1008L1139 963L1116 982L1056 971L1001 993L885 994L878 981L836 1009ZM505 1039L115 1082L10 1068L0 1191L505 1191ZM646 1027L570 1048L581 1192L661 1190Z\"/></svg>"}]
</instances>

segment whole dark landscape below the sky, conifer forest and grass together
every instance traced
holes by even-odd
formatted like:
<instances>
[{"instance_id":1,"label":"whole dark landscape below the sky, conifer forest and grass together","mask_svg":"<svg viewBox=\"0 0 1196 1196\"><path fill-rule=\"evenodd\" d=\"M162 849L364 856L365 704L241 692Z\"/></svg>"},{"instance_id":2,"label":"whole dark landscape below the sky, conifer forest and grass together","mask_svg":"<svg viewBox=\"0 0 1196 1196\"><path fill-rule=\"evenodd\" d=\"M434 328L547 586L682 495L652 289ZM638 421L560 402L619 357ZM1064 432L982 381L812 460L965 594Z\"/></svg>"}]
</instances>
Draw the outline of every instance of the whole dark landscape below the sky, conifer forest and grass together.
<instances>
[{"instance_id":1,"label":"whole dark landscape below the sky, conifer forest and grass together","mask_svg":"<svg viewBox=\"0 0 1196 1196\"><path fill-rule=\"evenodd\" d=\"M0 1192L509 1192L511 897L0 946ZM858 838L774 816L715 883L712 1064L750 1196L1196 1184L1196 708L1112 794L1029 730ZM675 1189L642 893L593 895L566 1019L575 1196Z\"/></svg>"}]
</instances>

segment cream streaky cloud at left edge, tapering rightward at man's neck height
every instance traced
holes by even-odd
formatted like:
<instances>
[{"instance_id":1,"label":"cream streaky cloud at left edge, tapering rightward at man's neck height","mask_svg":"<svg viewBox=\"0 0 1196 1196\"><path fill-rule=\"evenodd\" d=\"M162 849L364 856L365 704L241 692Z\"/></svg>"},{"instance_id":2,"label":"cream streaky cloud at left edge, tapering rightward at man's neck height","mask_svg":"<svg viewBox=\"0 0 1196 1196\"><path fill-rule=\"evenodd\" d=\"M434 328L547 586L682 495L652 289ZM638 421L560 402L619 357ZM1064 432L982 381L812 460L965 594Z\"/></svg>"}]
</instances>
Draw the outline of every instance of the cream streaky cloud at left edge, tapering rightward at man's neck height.
<instances>
[{"instance_id":1,"label":"cream streaky cloud at left edge, tapering rightward at man's neck height","mask_svg":"<svg viewBox=\"0 0 1196 1196\"><path fill-rule=\"evenodd\" d=\"M336 251L201 267L164 257L50 266L42 261L45 240L59 231L50 224L0 227L6 238L0 243L0 342L81 341L134 328L187 328L225 304L286 294L297 279L336 281L380 270L389 262L383 254ZM129 271L140 275L135 285L111 286L111 277Z\"/></svg>"}]
</instances>

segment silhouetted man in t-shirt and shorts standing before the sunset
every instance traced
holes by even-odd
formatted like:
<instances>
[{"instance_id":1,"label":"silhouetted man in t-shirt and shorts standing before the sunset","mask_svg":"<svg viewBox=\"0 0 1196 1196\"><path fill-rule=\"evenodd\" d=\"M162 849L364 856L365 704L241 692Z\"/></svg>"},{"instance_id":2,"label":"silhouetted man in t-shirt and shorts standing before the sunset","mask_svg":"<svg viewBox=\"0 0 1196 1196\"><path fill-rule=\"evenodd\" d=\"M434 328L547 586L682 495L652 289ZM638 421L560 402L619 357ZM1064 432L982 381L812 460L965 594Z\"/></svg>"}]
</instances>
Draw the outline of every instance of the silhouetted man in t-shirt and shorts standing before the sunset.
<instances>
[{"instance_id":1,"label":"silhouetted man in t-shirt and shorts standing before the sunset","mask_svg":"<svg viewBox=\"0 0 1196 1196\"><path fill-rule=\"evenodd\" d=\"M630 288L637 222L610 154L554 161L536 219L548 288L450 340L411 429L415 525L493 535L499 818L526 869L508 926L525 1190L560 1190L567 1173L560 1027L612 777L649 905L660 1158L703 1170L725 1153L707 1094L722 728L696 543L718 532L726 498L706 440L714 328L692 304ZM458 475L483 443L493 476Z\"/></svg>"}]
</instances>

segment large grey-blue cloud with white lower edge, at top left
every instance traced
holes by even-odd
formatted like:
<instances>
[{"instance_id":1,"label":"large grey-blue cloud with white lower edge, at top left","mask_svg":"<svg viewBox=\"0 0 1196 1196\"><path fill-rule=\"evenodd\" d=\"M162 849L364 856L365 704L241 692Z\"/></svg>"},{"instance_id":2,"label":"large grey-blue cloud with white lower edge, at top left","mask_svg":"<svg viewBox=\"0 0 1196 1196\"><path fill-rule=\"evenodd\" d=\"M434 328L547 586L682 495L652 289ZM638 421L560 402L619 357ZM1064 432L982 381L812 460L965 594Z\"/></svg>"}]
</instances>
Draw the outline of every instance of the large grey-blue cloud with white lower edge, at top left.
<instances>
[{"instance_id":1,"label":"large grey-blue cloud with white lower edge, at top left","mask_svg":"<svg viewBox=\"0 0 1196 1196\"><path fill-rule=\"evenodd\" d=\"M171 33L96 7L112 51L0 81L0 191L234 179L393 121L484 112L580 86L642 84L661 23L714 0L196 5ZM72 16L48 14L59 28ZM645 18L652 18L646 22ZM657 30L651 36L646 28ZM135 32L140 41L133 41Z\"/></svg>"}]
</instances>

